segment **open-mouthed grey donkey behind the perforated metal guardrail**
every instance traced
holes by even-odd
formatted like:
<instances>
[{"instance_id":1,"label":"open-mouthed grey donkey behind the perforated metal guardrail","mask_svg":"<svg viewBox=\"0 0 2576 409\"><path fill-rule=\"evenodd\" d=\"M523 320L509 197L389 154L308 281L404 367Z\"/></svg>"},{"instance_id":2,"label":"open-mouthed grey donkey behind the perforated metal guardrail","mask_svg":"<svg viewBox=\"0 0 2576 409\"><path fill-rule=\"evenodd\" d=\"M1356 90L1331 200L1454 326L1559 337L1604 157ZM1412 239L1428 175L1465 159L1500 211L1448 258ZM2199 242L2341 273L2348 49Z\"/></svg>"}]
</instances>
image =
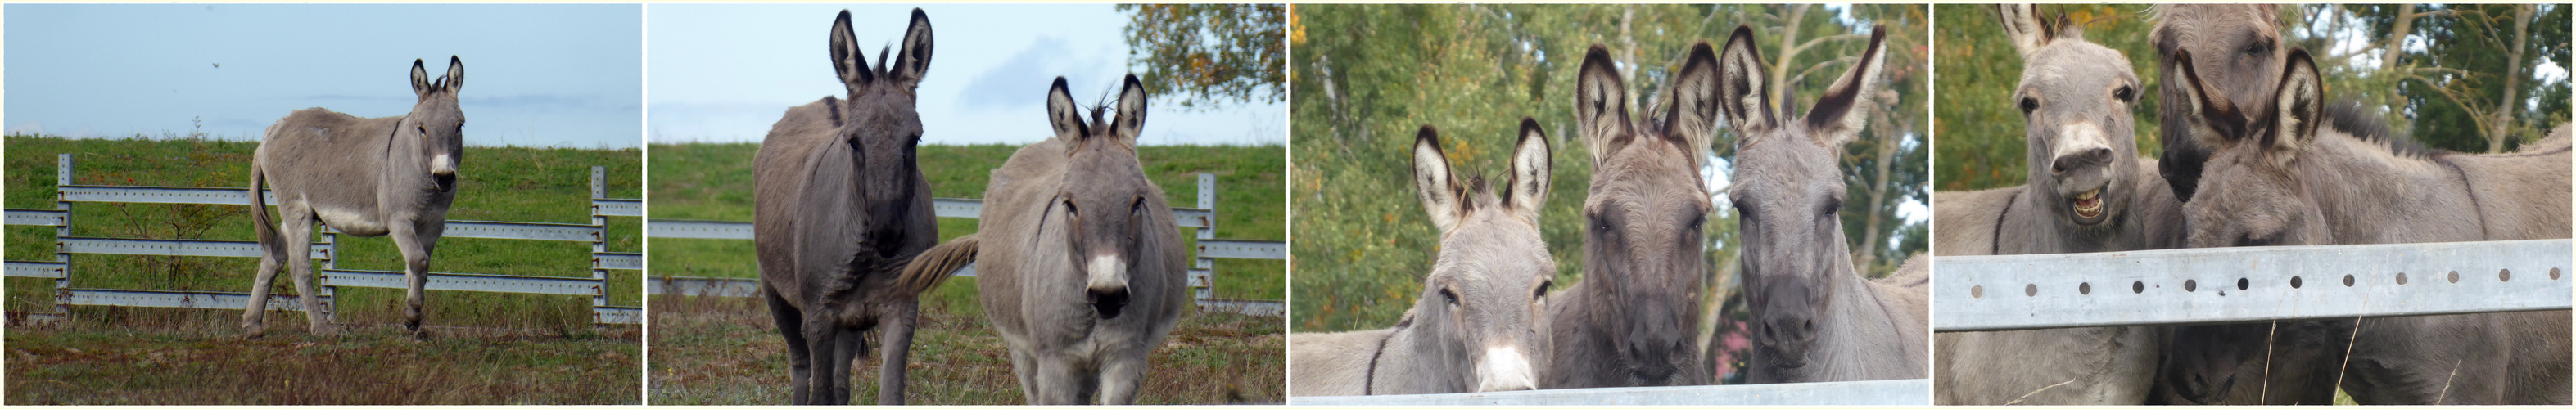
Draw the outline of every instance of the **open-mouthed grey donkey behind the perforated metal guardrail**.
<instances>
[{"instance_id":1,"label":"open-mouthed grey donkey behind the perforated metal guardrail","mask_svg":"<svg viewBox=\"0 0 2576 409\"><path fill-rule=\"evenodd\" d=\"M2002 5L2022 54L2014 100L2027 121L2030 185L1935 195L1940 255L2172 250L2182 214L2136 152L2141 82L2120 51L2063 15ZM1955 206L1976 203L1976 206ZM1984 208L1978 208L1984 206ZM1991 237L1955 239L1986 232ZM1978 247L1958 247L1986 244ZM1937 404L2143 404L2164 350L2159 327L1950 332L1935 340Z\"/></svg>"}]
</instances>

